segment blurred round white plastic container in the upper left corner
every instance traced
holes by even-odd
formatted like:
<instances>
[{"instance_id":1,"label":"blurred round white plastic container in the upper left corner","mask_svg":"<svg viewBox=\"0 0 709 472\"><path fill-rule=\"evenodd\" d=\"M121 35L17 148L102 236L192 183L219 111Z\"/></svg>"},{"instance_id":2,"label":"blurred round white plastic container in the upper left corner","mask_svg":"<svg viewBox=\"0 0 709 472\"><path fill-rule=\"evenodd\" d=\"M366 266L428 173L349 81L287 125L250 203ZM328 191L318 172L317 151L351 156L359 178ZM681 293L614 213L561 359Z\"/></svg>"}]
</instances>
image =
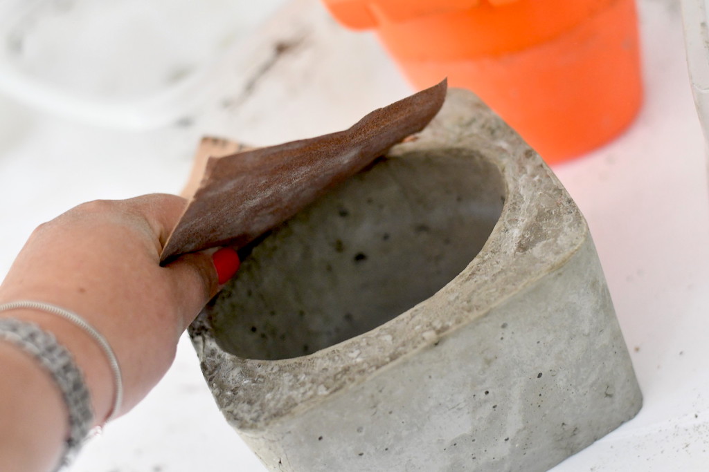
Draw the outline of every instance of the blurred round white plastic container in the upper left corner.
<instances>
[{"instance_id":1,"label":"blurred round white plastic container in the upper left corner","mask_svg":"<svg viewBox=\"0 0 709 472\"><path fill-rule=\"evenodd\" d=\"M0 93L124 129L179 120L284 0L0 1Z\"/></svg>"}]
</instances>

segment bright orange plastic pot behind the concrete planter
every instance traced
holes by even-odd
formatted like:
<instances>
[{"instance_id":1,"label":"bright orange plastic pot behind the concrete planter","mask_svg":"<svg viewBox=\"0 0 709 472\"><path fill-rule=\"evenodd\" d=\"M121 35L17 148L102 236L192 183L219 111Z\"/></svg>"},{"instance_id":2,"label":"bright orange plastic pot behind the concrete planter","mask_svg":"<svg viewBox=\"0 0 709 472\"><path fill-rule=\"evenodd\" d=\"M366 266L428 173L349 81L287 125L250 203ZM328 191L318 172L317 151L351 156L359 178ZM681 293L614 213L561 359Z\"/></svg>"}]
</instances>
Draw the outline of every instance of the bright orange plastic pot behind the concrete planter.
<instances>
[{"instance_id":1,"label":"bright orange plastic pot behind the concrete planter","mask_svg":"<svg viewBox=\"0 0 709 472\"><path fill-rule=\"evenodd\" d=\"M617 136L642 103L634 0L323 0L375 29L416 88L447 76L547 163Z\"/></svg>"}]
</instances>

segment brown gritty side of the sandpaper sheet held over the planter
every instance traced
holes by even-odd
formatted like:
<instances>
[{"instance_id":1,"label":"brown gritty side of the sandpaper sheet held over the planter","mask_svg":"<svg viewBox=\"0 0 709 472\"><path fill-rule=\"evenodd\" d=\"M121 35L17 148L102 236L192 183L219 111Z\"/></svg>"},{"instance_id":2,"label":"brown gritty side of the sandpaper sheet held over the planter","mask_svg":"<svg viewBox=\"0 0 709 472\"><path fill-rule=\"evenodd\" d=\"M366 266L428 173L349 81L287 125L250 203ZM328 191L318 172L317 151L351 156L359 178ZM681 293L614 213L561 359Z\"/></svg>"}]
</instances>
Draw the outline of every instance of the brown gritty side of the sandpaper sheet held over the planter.
<instances>
[{"instance_id":1,"label":"brown gritty side of the sandpaper sheet held over the planter","mask_svg":"<svg viewBox=\"0 0 709 472\"><path fill-rule=\"evenodd\" d=\"M199 188L165 243L161 262L216 246L242 248L293 217L428 125L445 100L446 88L444 80L374 110L345 131L210 157ZM203 141L201 148L209 145Z\"/></svg>"}]
</instances>

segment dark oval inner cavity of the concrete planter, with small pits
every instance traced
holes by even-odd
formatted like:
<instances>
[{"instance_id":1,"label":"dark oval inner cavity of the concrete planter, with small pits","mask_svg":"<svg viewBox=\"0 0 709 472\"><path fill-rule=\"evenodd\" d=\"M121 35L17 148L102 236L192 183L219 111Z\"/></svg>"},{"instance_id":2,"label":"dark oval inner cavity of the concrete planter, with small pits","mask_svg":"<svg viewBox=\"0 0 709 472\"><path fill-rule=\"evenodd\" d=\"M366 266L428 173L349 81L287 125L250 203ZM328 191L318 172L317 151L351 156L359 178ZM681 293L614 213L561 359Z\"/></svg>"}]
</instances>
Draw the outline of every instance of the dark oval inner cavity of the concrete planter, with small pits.
<instances>
[{"instance_id":1,"label":"dark oval inner cavity of the concrete planter, with small pits","mask_svg":"<svg viewBox=\"0 0 709 472\"><path fill-rule=\"evenodd\" d=\"M216 341L284 359L372 330L456 277L504 200L501 172L470 149L379 159L254 248L211 312Z\"/></svg>"}]
</instances>

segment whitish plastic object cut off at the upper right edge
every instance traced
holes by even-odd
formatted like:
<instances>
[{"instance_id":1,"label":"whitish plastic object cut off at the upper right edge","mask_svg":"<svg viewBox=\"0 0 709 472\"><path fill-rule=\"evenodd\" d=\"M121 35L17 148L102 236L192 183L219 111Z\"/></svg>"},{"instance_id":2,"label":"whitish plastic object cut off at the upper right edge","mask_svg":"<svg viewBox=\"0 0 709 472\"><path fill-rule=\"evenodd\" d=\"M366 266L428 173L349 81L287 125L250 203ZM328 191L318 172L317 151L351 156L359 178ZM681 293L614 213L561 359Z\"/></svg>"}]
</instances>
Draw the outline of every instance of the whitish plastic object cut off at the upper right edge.
<instances>
[{"instance_id":1,"label":"whitish plastic object cut off at the upper right edge","mask_svg":"<svg viewBox=\"0 0 709 472\"><path fill-rule=\"evenodd\" d=\"M682 0L682 20L692 93L709 142L709 26L705 0Z\"/></svg>"}]
</instances>

